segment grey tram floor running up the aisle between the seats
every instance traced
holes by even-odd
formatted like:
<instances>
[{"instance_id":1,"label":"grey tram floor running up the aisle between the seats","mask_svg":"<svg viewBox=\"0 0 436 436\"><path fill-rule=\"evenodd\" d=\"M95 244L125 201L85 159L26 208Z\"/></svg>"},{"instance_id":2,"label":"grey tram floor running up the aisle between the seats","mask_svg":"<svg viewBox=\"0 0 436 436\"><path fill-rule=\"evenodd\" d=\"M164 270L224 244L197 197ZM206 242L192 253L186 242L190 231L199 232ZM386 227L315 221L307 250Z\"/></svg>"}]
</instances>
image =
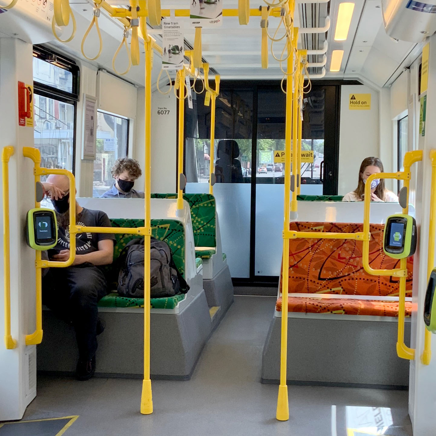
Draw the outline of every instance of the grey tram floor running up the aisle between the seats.
<instances>
[{"instance_id":1,"label":"grey tram floor running up the aisle between the seats","mask_svg":"<svg viewBox=\"0 0 436 436\"><path fill-rule=\"evenodd\" d=\"M44 376L23 419L78 415L65 436L349 436L346 416L350 406L361 406L353 409L361 416L355 436L382 434L362 428L377 408L392 412L393 425L383 434L412 435L406 391L290 386L290 419L276 421L278 388L259 382L274 303L275 297L235 296L192 379L152 381L152 415L139 412L140 380Z\"/></svg>"}]
</instances>

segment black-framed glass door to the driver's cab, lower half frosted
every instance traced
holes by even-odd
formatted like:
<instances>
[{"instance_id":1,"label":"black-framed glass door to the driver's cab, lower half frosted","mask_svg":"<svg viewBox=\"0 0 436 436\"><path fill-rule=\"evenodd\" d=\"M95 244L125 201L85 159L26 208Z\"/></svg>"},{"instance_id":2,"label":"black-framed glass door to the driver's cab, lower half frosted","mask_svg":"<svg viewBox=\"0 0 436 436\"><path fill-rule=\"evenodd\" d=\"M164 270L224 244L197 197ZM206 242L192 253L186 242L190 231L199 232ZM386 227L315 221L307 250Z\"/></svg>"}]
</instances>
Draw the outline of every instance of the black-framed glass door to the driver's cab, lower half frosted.
<instances>
[{"instance_id":1,"label":"black-framed glass door to the driver's cab, lower half frosted","mask_svg":"<svg viewBox=\"0 0 436 436\"><path fill-rule=\"evenodd\" d=\"M337 88L313 86L304 98L302 150L313 152L313 159L302 160L302 195L337 193L336 139L325 129L326 95ZM215 164L222 249L232 277L242 282L274 282L280 274L284 164L276 155L285 146L285 103L279 82L221 82L213 156L210 107L204 106L202 94L194 95L192 109L186 105L186 192L208 192L209 169ZM335 103L329 112L336 113Z\"/></svg>"}]
</instances>

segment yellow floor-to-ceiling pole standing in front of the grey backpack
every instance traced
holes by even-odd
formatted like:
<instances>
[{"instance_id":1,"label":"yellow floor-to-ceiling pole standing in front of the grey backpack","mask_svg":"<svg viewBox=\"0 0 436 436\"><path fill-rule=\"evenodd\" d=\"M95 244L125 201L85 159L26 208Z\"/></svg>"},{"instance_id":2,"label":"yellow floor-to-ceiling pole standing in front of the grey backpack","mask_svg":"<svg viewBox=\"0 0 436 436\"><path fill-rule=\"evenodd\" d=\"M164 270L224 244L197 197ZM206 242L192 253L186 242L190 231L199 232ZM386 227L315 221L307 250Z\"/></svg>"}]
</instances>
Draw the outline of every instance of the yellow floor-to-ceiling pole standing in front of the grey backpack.
<instances>
[{"instance_id":1,"label":"yellow floor-to-ceiling pole standing in front of the grey backpack","mask_svg":"<svg viewBox=\"0 0 436 436\"><path fill-rule=\"evenodd\" d=\"M150 229L151 195L151 68L153 43L148 35L145 45L145 166L144 166L144 227ZM150 380L150 232L144 235L144 379L142 382L141 413L153 413Z\"/></svg>"}]
</instances>

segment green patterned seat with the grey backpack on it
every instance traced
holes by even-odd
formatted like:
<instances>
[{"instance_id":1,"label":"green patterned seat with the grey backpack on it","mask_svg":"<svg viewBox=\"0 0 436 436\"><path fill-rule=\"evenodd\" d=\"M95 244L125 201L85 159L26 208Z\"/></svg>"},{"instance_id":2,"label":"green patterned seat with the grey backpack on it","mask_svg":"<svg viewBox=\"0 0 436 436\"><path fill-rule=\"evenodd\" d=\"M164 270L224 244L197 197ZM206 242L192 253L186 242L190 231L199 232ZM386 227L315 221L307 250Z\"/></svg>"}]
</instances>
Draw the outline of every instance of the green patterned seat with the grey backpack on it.
<instances>
[{"instance_id":1,"label":"green patterned seat with the grey backpack on it","mask_svg":"<svg viewBox=\"0 0 436 436\"><path fill-rule=\"evenodd\" d=\"M143 219L111 219L112 227L143 227ZM167 242L173 254L174 263L177 269L184 276L185 271L185 232L181 221L170 219L152 219L151 220L151 235L153 238ZM118 259L127 242L139 235L115 234L116 244L113 251L114 262ZM116 281L118 279L118 271L114 270L113 264L105 268L106 276L108 277L109 286L116 289ZM173 309L177 303L184 299L184 295L178 294L168 298L152 298L150 300L151 307L159 309ZM162 301L161 301L162 300ZM168 300L168 301L164 301ZM104 296L99 301L99 307L143 307L143 298L127 298L119 296L117 293L112 293Z\"/></svg>"}]
</instances>

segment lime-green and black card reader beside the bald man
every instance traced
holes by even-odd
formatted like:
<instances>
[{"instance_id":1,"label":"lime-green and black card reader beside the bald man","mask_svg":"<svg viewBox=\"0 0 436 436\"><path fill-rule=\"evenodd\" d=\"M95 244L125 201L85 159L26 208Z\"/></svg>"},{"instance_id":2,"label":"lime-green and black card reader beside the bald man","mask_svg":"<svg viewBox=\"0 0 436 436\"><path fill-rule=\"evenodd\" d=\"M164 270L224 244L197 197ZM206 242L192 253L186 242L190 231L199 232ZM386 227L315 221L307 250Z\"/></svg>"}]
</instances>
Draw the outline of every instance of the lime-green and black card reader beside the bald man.
<instances>
[{"instance_id":1,"label":"lime-green and black card reader beside the bald man","mask_svg":"<svg viewBox=\"0 0 436 436\"><path fill-rule=\"evenodd\" d=\"M53 210L35 208L27 212L26 242L35 250L48 250L56 246L58 225Z\"/></svg>"}]
</instances>

